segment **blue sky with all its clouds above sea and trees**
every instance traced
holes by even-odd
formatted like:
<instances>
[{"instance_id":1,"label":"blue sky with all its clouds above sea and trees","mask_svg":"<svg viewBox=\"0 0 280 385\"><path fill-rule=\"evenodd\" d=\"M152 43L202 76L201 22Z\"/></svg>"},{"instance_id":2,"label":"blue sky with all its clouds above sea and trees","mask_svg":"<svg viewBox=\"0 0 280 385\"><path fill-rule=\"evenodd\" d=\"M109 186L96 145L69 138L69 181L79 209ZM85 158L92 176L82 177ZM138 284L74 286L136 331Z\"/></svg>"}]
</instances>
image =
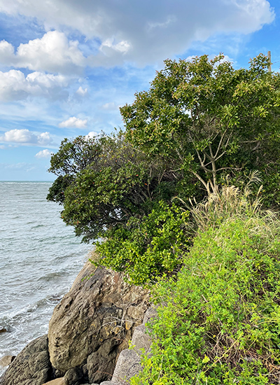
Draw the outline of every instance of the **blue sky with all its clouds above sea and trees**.
<instances>
[{"instance_id":1,"label":"blue sky with all its clouds above sea and trees","mask_svg":"<svg viewBox=\"0 0 280 385\"><path fill-rule=\"evenodd\" d=\"M0 0L0 181L51 181L65 137L122 127L163 60L272 52L276 0Z\"/></svg>"}]
</instances>

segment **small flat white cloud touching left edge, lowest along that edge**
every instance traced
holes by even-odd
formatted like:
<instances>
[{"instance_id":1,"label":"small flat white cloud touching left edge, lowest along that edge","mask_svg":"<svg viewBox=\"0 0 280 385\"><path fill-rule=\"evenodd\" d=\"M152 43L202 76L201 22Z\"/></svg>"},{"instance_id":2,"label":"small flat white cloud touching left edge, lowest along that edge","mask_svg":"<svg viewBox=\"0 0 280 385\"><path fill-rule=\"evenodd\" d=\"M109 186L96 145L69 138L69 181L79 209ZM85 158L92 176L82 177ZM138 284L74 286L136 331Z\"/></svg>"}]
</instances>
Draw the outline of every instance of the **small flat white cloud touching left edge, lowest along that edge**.
<instances>
[{"instance_id":1,"label":"small flat white cloud touching left edge, lowest along that edge","mask_svg":"<svg viewBox=\"0 0 280 385\"><path fill-rule=\"evenodd\" d=\"M5 134L0 136L0 141L34 146L46 146L52 143L49 132L42 132L41 134L37 134L27 129L15 129L7 131Z\"/></svg>"}]
</instances>

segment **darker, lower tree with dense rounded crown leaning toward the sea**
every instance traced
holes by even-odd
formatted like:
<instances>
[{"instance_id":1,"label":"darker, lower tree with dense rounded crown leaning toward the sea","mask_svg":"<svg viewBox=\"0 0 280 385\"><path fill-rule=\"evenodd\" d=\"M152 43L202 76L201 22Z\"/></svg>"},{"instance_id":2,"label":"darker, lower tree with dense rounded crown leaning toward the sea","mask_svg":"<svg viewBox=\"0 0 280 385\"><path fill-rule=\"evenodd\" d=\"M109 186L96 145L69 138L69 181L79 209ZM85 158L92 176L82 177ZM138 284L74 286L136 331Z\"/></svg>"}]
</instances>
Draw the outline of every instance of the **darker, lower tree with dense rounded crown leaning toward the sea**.
<instances>
[{"instance_id":1,"label":"darker, lower tree with dense rounded crown leaning toward the sea","mask_svg":"<svg viewBox=\"0 0 280 385\"><path fill-rule=\"evenodd\" d=\"M64 222L84 241L142 218L175 192L172 163L133 148L123 132L64 139L50 162L57 179L47 199L64 205Z\"/></svg>"}]
</instances>

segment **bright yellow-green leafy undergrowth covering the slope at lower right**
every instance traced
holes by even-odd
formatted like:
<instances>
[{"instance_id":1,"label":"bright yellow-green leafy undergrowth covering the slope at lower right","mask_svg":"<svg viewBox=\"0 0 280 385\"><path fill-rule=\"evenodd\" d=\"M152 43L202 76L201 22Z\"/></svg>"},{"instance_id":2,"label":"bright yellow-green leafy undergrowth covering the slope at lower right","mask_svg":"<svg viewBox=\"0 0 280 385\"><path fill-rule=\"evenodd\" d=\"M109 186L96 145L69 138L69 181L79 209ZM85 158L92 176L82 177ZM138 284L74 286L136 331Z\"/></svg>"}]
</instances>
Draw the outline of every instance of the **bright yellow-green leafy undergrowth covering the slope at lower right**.
<instances>
[{"instance_id":1,"label":"bright yellow-green leafy undergrowth covering the slope at lower right","mask_svg":"<svg viewBox=\"0 0 280 385\"><path fill-rule=\"evenodd\" d=\"M155 286L153 354L131 384L279 384L280 222L240 207L198 233L176 280Z\"/></svg>"}]
</instances>

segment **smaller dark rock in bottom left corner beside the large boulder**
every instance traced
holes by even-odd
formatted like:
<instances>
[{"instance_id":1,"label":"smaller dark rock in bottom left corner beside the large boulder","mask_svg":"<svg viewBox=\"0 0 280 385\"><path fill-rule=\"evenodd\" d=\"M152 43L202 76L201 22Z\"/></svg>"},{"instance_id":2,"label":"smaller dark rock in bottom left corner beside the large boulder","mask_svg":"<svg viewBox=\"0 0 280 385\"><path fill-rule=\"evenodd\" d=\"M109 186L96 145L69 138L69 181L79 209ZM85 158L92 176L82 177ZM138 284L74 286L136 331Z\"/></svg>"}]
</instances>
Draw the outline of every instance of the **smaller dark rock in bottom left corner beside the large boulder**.
<instances>
[{"instance_id":1,"label":"smaller dark rock in bottom left corner beside the large boulder","mask_svg":"<svg viewBox=\"0 0 280 385\"><path fill-rule=\"evenodd\" d=\"M48 337L30 342L10 364L0 379L1 385L42 385L50 380Z\"/></svg>"}]
</instances>

